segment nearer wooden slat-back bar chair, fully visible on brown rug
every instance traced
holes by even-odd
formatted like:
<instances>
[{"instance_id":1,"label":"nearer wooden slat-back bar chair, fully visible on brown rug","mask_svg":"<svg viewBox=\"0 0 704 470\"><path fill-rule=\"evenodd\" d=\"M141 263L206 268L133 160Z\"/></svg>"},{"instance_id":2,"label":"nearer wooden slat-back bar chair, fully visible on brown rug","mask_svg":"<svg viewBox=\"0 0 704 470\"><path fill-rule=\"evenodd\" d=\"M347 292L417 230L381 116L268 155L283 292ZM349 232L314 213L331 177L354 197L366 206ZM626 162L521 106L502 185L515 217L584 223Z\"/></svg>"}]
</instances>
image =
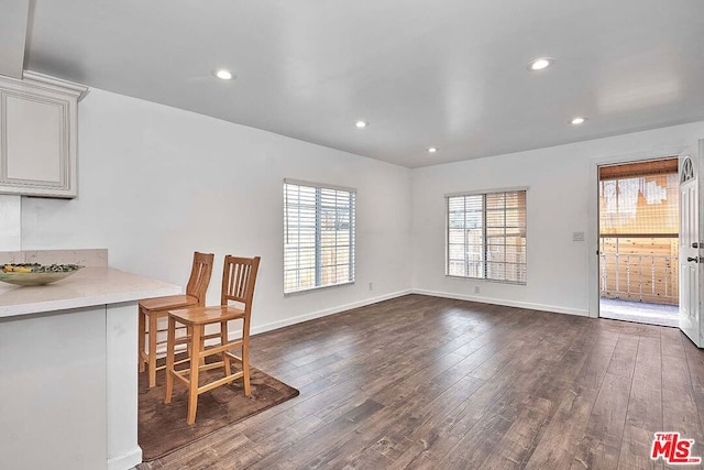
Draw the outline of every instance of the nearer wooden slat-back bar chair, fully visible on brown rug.
<instances>
[{"instance_id":1,"label":"nearer wooden slat-back bar chair, fully visible on brown rug","mask_svg":"<svg viewBox=\"0 0 704 470\"><path fill-rule=\"evenodd\" d=\"M175 309L168 313L168 339L166 352L166 394L164 403L170 403L174 379L178 379L188 386L188 424L196 422L196 408L198 395L220 385L226 385L238 379L242 379L244 395L251 395L250 387L250 318L252 314L252 299L254 298L254 285L260 266L260 256L235 258L227 255L222 269L222 293L220 305L212 307L193 307ZM238 306L231 303L239 304ZM237 340L228 338L228 321L242 320L242 335ZM176 339L177 324L186 326L189 335L186 338ZM219 325L220 331L206 335L208 325ZM206 340L219 339L219 345L208 346ZM177 343L188 345L188 359L176 362L175 348ZM241 354L231 352L240 349ZM207 363L209 356L220 356L220 361ZM231 362L240 364L237 372L232 372ZM188 362L188 369L176 370L179 363ZM221 379L199 386L200 373L211 369L223 369Z\"/></svg>"}]
</instances>

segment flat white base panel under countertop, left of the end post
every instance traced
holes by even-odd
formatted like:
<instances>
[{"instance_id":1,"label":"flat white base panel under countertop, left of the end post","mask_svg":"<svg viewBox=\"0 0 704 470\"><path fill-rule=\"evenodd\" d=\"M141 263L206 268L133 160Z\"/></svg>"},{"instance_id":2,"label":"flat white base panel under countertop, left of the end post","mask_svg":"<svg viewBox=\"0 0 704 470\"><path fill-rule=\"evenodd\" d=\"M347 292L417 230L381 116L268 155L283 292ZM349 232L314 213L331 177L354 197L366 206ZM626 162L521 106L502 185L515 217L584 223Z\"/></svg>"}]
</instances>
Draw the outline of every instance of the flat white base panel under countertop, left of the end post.
<instances>
[{"instance_id":1,"label":"flat white base panel under countertop, left of the end post","mask_svg":"<svg viewBox=\"0 0 704 470\"><path fill-rule=\"evenodd\" d=\"M0 323L3 468L106 467L106 320L103 305Z\"/></svg>"}]
</instances>

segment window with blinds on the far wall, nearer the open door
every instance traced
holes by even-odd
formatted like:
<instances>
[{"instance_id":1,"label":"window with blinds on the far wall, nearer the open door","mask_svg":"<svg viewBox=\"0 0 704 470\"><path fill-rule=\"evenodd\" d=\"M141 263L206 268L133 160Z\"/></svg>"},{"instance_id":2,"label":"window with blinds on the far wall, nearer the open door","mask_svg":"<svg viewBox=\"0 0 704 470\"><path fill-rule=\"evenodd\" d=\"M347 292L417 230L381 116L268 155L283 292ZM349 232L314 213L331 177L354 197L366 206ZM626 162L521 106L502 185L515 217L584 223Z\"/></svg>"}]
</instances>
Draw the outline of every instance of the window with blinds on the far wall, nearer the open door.
<instances>
[{"instance_id":1,"label":"window with blinds on the far wall, nearer the open door","mask_svg":"<svg viewBox=\"0 0 704 470\"><path fill-rule=\"evenodd\" d=\"M447 196L449 276L526 284L526 190Z\"/></svg>"}]
</instances>

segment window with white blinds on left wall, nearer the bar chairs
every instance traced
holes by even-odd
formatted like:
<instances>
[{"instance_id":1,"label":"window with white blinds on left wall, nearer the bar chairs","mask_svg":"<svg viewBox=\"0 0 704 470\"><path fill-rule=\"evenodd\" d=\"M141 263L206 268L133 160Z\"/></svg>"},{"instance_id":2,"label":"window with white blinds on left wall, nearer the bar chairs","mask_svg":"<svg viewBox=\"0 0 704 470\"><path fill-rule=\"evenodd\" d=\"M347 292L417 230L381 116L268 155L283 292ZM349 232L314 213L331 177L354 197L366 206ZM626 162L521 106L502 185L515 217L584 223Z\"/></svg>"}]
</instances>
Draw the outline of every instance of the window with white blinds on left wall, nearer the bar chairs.
<instances>
[{"instance_id":1,"label":"window with white blinds on left wall, nearer the bar chairs","mask_svg":"<svg viewBox=\"0 0 704 470\"><path fill-rule=\"evenodd\" d=\"M354 282L356 190L284 181L284 293Z\"/></svg>"}]
</instances>

